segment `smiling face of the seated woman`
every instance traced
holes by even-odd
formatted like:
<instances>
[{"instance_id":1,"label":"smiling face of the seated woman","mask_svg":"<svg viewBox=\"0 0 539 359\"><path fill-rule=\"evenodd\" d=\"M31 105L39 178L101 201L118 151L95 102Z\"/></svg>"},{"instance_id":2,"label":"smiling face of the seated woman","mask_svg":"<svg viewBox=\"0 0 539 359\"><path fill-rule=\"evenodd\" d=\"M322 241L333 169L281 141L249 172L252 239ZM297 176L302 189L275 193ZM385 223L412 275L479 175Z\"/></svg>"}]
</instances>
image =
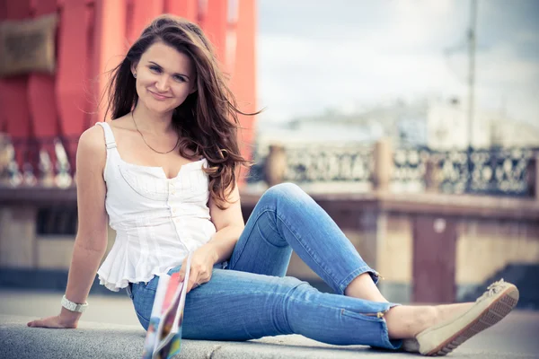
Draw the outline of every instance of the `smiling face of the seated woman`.
<instances>
[{"instance_id":1,"label":"smiling face of the seated woman","mask_svg":"<svg viewBox=\"0 0 539 359\"><path fill-rule=\"evenodd\" d=\"M190 57L163 42L147 48L131 71L137 74L139 101L158 113L177 108L196 89Z\"/></svg>"}]
</instances>

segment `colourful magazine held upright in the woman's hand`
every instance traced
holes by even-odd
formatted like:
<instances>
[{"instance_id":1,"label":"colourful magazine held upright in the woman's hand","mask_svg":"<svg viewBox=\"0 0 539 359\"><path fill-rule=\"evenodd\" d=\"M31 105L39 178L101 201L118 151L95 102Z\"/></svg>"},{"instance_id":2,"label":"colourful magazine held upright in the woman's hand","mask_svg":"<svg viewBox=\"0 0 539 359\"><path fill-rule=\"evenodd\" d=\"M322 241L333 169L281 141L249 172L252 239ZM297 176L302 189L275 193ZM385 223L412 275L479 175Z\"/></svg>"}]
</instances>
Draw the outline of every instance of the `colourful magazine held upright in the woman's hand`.
<instances>
[{"instance_id":1,"label":"colourful magazine held upright in the woman's hand","mask_svg":"<svg viewBox=\"0 0 539 359\"><path fill-rule=\"evenodd\" d=\"M143 359L170 359L180 353L181 322L190 273L189 254L185 280L180 282L179 273L159 276L154 306L144 343Z\"/></svg>"}]
</instances>

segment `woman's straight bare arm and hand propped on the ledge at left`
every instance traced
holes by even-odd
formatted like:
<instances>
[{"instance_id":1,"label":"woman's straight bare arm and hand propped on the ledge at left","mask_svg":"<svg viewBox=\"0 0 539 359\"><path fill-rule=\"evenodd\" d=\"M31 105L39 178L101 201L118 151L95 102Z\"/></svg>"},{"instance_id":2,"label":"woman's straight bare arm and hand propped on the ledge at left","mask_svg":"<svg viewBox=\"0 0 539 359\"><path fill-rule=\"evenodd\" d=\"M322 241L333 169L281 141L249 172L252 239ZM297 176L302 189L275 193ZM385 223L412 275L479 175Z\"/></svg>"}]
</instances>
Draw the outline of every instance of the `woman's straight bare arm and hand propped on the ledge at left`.
<instances>
[{"instance_id":1,"label":"woman's straight bare arm and hand propped on the ledge at left","mask_svg":"<svg viewBox=\"0 0 539 359\"><path fill-rule=\"evenodd\" d=\"M71 302L86 302L107 249L106 187L103 180L105 162L102 128L91 127L80 137L76 152L78 230L66 287L66 298ZM76 328L80 317L81 313L62 307L59 315L33 320L28 326Z\"/></svg>"}]
</instances>

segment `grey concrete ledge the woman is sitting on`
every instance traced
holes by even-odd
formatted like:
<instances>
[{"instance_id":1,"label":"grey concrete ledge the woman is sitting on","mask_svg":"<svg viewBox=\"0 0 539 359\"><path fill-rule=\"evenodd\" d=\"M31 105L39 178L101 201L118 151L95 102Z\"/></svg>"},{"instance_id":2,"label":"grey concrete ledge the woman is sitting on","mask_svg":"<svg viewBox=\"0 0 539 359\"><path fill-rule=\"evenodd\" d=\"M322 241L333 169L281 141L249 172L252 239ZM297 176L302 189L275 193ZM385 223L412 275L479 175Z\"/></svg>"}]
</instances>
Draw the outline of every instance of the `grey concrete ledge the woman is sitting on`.
<instances>
[{"instance_id":1,"label":"grey concrete ledge the woman is sitting on","mask_svg":"<svg viewBox=\"0 0 539 359\"><path fill-rule=\"evenodd\" d=\"M132 325L81 322L79 328L27 328L30 317L0 314L0 347L4 358L139 358L145 331ZM534 348L535 349L535 348ZM529 353L529 352L528 352ZM533 352L532 352L533 353ZM302 336L264 337L248 342L184 340L178 358L410 358L410 354L391 353L368 346L329 346ZM492 348L459 349L452 358L508 357ZM514 358L535 355L511 353Z\"/></svg>"}]
</instances>

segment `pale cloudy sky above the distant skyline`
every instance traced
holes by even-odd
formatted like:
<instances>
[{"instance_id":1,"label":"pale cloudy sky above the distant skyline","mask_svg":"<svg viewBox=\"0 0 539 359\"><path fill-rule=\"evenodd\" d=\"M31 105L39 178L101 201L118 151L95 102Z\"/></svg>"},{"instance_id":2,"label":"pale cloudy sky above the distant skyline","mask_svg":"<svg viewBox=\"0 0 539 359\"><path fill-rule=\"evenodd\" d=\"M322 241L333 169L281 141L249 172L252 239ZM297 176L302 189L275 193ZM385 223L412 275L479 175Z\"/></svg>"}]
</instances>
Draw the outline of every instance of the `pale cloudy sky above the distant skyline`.
<instances>
[{"instance_id":1,"label":"pale cloudy sky above the distant skyline","mask_svg":"<svg viewBox=\"0 0 539 359\"><path fill-rule=\"evenodd\" d=\"M467 99L468 0L259 0L261 121ZM478 0L476 109L539 126L539 0Z\"/></svg>"}]
</instances>

